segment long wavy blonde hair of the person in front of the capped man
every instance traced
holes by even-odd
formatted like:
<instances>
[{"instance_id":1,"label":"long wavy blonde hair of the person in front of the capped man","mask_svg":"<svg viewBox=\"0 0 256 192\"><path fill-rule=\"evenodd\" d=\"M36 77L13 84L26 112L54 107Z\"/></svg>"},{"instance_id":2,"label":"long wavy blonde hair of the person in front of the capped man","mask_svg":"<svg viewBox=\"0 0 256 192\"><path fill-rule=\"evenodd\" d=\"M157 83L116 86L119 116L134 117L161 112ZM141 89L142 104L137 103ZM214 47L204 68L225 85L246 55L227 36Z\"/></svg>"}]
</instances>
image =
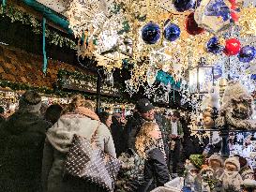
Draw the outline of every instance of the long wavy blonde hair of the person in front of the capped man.
<instances>
[{"instance_id":1,"label":"long wavy blonde hair of the person in front of the capped man","mask_svg":"<svg viewBox=\"0 0 256 192\"><path fill-rule=\"evenodd\" d=\"M135 141L135 148L140 156L146 158L146 150L157 144L157 140L150 137L149 132L158 127L157 123L145 122Z\"/></svg>"}]
</instances>

